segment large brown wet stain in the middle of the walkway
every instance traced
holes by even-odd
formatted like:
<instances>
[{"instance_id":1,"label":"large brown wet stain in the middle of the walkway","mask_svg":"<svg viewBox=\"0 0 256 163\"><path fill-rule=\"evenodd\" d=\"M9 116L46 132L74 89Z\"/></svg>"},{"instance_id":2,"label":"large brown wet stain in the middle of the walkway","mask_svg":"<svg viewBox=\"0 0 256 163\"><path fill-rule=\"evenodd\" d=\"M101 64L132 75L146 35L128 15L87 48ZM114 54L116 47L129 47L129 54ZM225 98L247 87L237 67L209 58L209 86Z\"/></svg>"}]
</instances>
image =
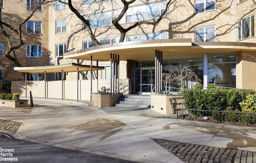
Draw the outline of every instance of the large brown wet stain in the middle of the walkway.
<instances>
[{"instance_id":1,"label":"large brown wet stain in the middle of the walkway","mask_svg":"<svg viewBox=\"0 0 256 163\"><path fill-rule=\"evenodd\" d=\"M92 132L106 132L114 128L118 128L126 125L120 120L111 120L108 118L98 118L96 120L89 121L85 124L80 124L77 126L72 126L70 128L75 130L86 130Z\"/></svg>"}]
</instances>

